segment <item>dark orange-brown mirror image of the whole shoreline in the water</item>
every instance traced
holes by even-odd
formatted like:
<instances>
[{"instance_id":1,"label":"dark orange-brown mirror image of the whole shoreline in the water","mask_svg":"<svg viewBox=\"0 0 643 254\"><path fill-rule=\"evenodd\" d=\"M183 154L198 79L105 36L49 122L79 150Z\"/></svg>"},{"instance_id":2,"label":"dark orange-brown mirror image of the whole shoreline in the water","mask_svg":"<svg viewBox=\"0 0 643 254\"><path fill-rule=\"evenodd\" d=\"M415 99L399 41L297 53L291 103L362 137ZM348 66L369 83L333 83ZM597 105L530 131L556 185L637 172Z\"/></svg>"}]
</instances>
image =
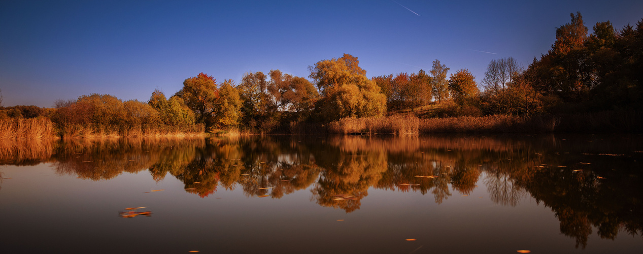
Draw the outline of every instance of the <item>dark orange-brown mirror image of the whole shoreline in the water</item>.
<instances>
[{"instance_id":1,"label":"dark orange-brown mirror image of the whole shoreline in the water","mask_svg":"<svg viewBox=\"0 0 643 254\"><path fill-rule=\"evenodd\" d=\"M268 136L209 139L1 141L0 164L50 163L93 181L149 170L208 197L242 188L279 199L308 189L320 206L359 210L370 188L432 195L444 203L484 185L492 201L530 195L584 248L643 233L640 136ZM1 182L0 182L1 184Z\"/></svg>"}]
</instances>

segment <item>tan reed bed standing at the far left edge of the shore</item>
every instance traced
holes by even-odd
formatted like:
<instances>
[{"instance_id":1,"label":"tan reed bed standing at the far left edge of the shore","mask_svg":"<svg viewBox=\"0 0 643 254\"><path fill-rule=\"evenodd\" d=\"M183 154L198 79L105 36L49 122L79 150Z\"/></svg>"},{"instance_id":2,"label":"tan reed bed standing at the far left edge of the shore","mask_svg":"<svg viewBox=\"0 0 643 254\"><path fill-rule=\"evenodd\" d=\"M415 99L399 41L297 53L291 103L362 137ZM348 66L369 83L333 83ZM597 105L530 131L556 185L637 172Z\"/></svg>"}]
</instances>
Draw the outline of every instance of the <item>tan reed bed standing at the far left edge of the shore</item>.
<instances>
[{"instance_id":1,"label":"tan reed bed standing at the far left edge of the shore","mask_svg":"<svg viewBox=\"0 0 643 254\"><path fill-rule=\"evenodd\" d=\"M0 140L33 140L56 138L49 118L0 120Z\"/></svg>"}]
</instances>

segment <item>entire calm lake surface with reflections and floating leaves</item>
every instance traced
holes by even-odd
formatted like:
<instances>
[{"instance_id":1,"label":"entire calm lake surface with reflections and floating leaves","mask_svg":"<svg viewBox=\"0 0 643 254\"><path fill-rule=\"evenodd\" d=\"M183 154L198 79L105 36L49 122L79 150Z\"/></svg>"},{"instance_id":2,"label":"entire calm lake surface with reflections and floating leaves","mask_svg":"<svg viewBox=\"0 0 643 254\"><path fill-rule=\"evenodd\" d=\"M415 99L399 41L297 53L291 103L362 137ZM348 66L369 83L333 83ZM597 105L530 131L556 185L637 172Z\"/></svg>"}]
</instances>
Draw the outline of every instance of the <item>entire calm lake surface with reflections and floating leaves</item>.
<instances>
[{"instance_id":1,"label":"entire calm lake surface with reflections and floating leaves","mask_svg":"<svg viewBox=\"0 0 643 254\"><path fill-rule=\"evenodd\" d=\"M0 253L641 253L642 161L635 134L0 141Z\"/></svg>"}]
</instances>

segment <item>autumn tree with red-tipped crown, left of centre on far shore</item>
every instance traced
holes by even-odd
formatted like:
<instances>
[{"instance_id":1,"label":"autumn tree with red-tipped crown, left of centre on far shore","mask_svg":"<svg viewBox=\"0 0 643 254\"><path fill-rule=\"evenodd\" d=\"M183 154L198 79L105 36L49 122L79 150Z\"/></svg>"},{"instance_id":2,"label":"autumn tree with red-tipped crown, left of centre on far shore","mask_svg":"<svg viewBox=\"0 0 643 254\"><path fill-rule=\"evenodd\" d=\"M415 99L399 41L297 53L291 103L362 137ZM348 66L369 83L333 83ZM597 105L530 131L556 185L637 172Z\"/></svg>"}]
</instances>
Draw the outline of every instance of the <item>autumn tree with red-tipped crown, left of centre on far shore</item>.
<instances>
[{"instance_id":1,"label":"autumn tree with red-tipped crown, left of centre on far shore","mask_svg":"<svg viewBox=\"0 0 643 254\"><path fill-rule=\"evenodd\" d=\"M205 123L206 130L213 124L215 105L219 97L217 80L205 73L183 81L183 89L179 91L181 98L196 113L197 122Z\"/></svg>"}]
</instances>

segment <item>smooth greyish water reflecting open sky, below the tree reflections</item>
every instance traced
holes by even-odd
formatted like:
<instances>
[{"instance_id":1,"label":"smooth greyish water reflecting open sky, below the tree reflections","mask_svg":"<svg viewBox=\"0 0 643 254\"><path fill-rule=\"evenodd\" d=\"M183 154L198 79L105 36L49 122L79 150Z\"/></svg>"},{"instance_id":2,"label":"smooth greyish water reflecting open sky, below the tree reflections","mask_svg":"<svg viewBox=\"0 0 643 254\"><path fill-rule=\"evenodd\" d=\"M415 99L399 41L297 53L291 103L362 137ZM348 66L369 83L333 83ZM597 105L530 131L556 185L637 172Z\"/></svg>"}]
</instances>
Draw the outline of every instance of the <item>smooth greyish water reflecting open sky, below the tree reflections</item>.
<instances>
[{"instance_id":1,"label":"smooth greyish water reflecting open sky, below the tree reflections","mask_svg":"<svg viewBox=\"0 0 643 254\"><path fill-rule=\"evenodd\" d=\"M174 177L155 183L145 171L108 181L57 176L47 164L3 173L11 177L0 189L0 239L8 253L409 253L420 246L419 253L581 252L543 204L529 195L515 207L493 204L480 181L466 197L451 190L442 204L431 194L370 188L361 208L345 213L311 202L308 190L271 199L221 189L201 199ZM152 189L164 190L144 193ZM118 217L131 206L148 206L152 217ZM582 252L643 247L638 237L619 236L600 240L593 233ZM410 238L417 240L404 240Z\"/></svg>"}]
</instances>

